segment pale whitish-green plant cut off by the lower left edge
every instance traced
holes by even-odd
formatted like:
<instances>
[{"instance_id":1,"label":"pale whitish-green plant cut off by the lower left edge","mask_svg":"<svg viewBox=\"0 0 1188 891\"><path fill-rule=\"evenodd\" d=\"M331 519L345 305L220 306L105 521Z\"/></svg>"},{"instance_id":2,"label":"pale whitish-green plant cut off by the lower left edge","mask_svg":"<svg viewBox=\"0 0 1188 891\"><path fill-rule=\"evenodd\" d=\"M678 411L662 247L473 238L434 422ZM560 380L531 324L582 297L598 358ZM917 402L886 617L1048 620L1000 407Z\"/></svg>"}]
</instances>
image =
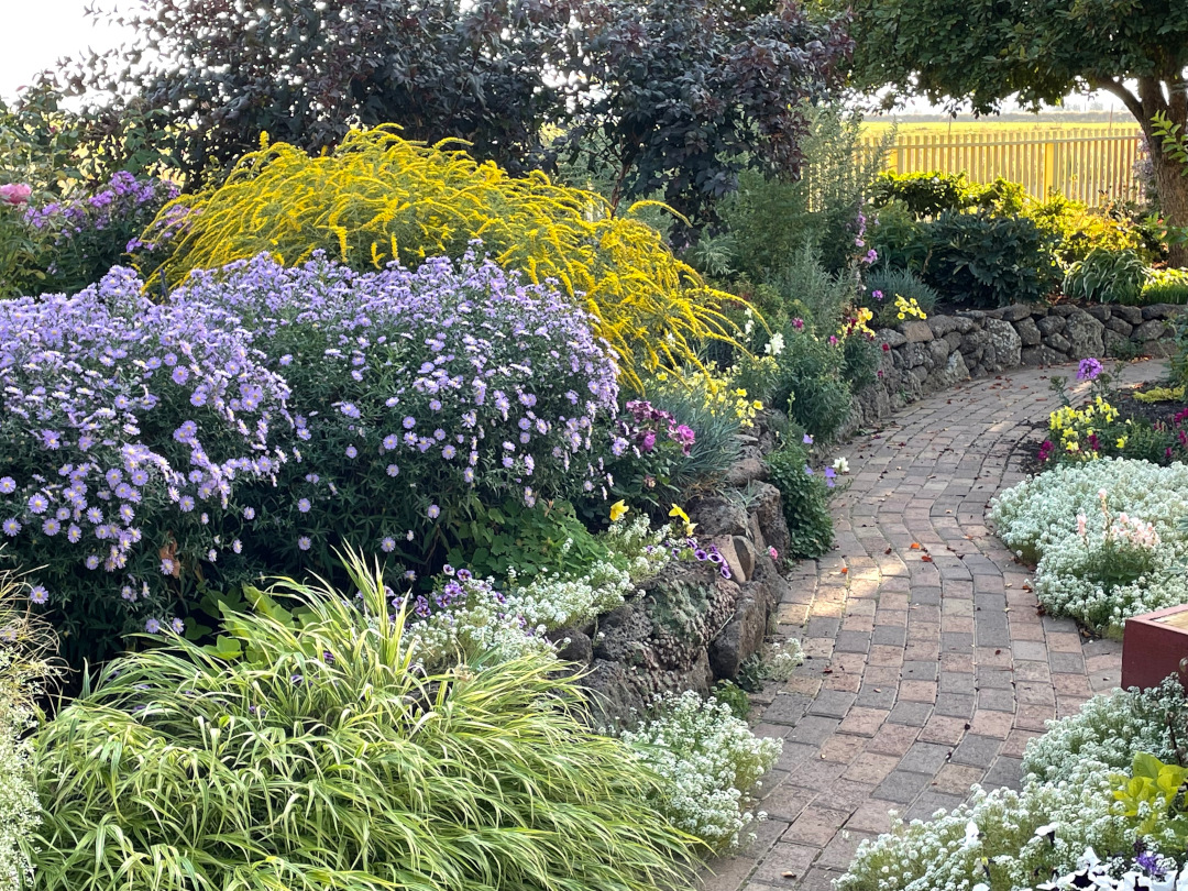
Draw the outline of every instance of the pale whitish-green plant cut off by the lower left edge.
<instances>
[{"instance_id":1,"label":"pale whitish-green plant cut off by the lower left edge","mask_svg":"<svg viewBox=\"0 0 1188 891\"><path fill-rule=\"evenodd\" d=\"M0 678L11 658L0 646ZM32 715L8 693L0 684L0 891L18 891L32 874L19 841L37 828L39 817L30 752L20 740Z\"/></svg>"}]
</instances>

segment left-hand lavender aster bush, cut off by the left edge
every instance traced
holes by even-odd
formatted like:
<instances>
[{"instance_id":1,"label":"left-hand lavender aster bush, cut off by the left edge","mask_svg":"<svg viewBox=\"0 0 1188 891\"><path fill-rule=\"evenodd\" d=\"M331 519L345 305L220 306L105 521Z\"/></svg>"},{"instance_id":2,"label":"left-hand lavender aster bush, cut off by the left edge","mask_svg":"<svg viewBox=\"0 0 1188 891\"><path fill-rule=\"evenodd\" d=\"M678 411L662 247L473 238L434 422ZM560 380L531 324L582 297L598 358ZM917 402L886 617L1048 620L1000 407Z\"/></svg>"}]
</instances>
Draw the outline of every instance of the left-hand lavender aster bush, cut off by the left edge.
<instances>
[{"instance_id":1,"label":"left-hand lavender aster bush, cut off by the left edge","mask_svg":"<svg viewBox=\"0 0 1188 891\"><path fill-rule=\"evenodd\" d=\"M287 385L238 320L141 291L116 268L0 303L0 554L37 568L68 656L171 613L242 525L236 487L289 457Z\"/></svg>"}]
</instances>

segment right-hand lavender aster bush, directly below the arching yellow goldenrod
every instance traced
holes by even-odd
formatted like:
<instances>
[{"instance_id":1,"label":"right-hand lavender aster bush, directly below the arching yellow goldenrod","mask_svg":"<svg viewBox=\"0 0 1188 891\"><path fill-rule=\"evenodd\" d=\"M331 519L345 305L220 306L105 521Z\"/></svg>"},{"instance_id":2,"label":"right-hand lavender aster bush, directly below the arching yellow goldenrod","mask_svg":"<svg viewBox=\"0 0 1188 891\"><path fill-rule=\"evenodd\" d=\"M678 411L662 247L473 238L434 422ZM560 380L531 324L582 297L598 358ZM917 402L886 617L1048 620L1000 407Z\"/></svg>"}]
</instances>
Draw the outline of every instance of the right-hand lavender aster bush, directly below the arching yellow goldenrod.
<instances>
[{"instance_id":1,"label":"right-hand lavender aster bush, directly below the arching yellow goldenrod","mask_svg":"<svg viewBox=\"0 0 1188 891\"><path fill-rule=\"evenodd\" d=\"M274 541L391 539L419 562L480 505L605 482L611 349L558 291L473 253L371 273L261 255L173 299L233 314L292 392L295 460L278 488L252 487Z\"/></svg>"}]
</instances>

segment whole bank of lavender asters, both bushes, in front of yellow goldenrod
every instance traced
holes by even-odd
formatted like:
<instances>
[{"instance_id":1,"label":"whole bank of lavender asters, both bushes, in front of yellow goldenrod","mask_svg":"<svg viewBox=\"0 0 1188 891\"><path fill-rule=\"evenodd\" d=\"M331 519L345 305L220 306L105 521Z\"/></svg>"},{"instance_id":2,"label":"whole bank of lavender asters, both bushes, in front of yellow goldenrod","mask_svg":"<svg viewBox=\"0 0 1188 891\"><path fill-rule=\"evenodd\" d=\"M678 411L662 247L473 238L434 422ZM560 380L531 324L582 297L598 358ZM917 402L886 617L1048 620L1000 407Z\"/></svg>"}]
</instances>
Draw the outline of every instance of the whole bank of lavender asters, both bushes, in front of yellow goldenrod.
<instances>
[{"instance_id":1,"label":"whole bank of lavender asters, both bushes, in front of yellow goldenrod","mask_svg":"<svg viewBox=\"0 0 1188 891\"><path fill-rule=\"evenodd\" d=\"M116 268L0 304L4 554L91 656L341 542L431 568L485 507L606 484L615 374L584 311L474 255L260 257L162 304Z\"/></svg>"}]
</instances>

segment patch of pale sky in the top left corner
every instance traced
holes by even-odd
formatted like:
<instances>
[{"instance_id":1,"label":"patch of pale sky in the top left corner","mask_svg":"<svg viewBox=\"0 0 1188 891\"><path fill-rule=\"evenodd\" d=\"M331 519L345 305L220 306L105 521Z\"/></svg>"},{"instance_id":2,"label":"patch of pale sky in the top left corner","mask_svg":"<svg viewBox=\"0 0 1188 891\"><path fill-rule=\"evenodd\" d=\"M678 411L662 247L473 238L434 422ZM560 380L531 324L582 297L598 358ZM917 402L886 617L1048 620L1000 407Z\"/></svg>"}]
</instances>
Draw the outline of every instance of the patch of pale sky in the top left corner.
<instances>
[{"instance_id":1,"label":"patch of pale sky in the top left corner","mask_svg":"<svg viewBox=\"0 0 1188 891\"><path fill-rule=\"evenodd\" d=\"M33 75L62 56L86 50L112 49L121 32L103 21L93 24L83 10L96 0L0 0L4 49L0 50L0 96L11 100ZM113 0L100 4L107 10ZM121 0L120 8L129 6Z\"/></svg>"}]
</instances>

